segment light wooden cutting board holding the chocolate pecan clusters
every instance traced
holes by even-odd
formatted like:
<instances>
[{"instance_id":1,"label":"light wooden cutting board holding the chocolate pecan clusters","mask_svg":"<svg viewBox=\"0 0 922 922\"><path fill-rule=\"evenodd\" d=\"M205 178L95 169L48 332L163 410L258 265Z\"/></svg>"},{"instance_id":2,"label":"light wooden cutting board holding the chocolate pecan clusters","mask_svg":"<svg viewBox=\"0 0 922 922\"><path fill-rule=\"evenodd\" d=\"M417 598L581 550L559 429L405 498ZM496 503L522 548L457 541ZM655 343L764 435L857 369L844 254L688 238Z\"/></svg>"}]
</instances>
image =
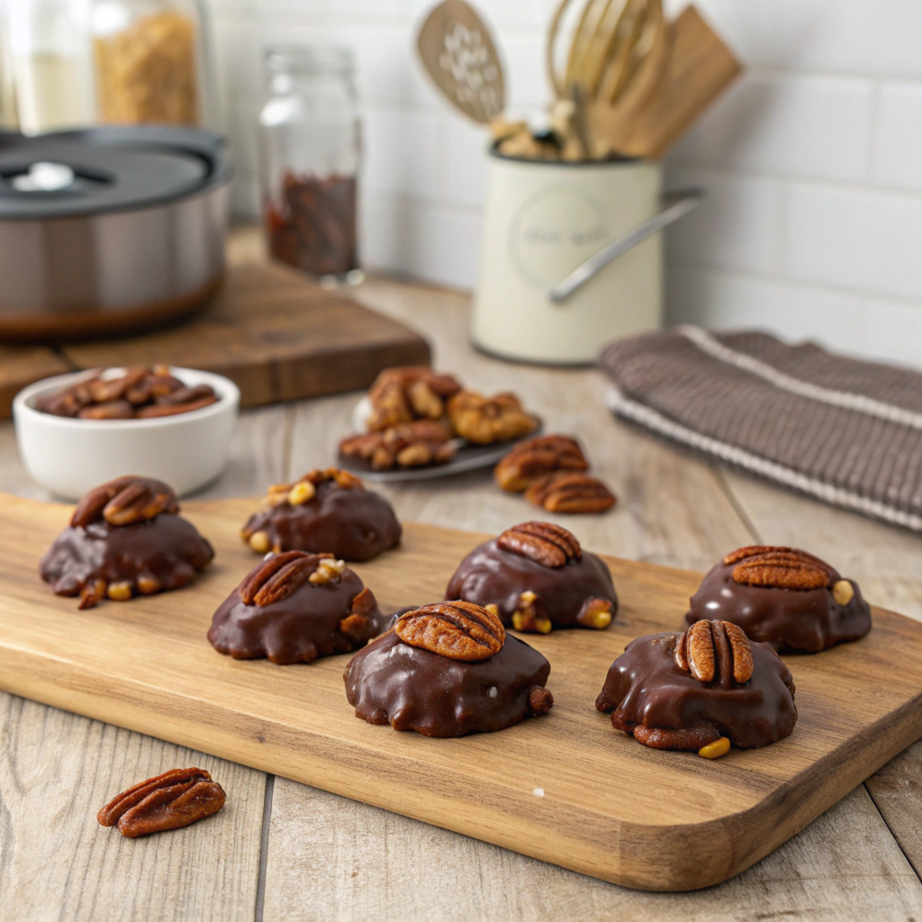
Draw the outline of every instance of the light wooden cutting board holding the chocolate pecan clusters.
<instances>
[{"instance_id":1,"label":"light wooden cutting board holding the chocolate pecan clusters","mask_svg":"<svg viewBox=\"0 0 922 922\"><path fill-rule=\"evenodd\" d=\"M773 746L708 762L615 732L594 706L609 665L678 629L699 579L616 558L609 631L527 637L550 659L550 715L465 739L372 727L346 701L348 656L279 667L207 643L254 565L238 528L255 502L186 504L217 550L193 587L79 612L36 573L68 508L0 495L0 688L645 890L738 874L922 736L922 625L882 609L863 640L787 657L799 719ZM422 604L481 539L407 523L355 569L383 609Z\"/></svg>"}]
</instances>

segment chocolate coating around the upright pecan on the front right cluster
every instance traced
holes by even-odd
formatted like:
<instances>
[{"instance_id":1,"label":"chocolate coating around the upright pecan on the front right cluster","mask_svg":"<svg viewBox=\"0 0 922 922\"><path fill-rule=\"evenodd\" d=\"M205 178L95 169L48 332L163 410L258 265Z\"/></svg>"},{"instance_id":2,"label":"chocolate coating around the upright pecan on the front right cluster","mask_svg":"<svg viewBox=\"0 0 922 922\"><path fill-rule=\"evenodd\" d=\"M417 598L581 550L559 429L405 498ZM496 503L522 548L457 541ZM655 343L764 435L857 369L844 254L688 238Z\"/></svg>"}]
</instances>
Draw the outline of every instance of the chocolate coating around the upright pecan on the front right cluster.
<instances>
[{"instance_id":1,"label":"chocolate coating around the upright pecan on the front right cluster","mask_svg":"<svg viewBox=\"0 0 922 922\"><path fill-rule=\"evenodd\" d=\"M751 642L754 668L745 685L700 682L676 665L678 633L647 634L628 644L612 663L596 707L611 724L712 731L740 749L766 746L789 736L798 719L794 680L766 644ZM698 746L695 746L697 749Z\"/></svg>"}]
</instances>

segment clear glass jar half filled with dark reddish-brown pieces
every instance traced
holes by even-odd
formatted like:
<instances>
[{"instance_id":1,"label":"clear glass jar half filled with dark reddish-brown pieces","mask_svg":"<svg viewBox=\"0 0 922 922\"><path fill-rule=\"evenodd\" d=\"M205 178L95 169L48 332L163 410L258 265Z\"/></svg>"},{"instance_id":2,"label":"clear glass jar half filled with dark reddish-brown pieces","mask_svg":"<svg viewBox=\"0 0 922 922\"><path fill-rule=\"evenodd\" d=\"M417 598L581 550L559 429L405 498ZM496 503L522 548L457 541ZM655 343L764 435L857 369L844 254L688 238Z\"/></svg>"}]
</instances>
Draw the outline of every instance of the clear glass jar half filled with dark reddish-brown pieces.
<instances>
[{"instance_id":1,"label":"clear glass jar half filled with dark reddish-brown pieces","mask_svg":"<svg viewBox=\"0 0 922 922\"><path fill-rule=\"evenodd\" d=\"M266 51L265 67L259 121L269 252L313 276L361 280L361 121L352 53L278 46Z\"/></svg>"}]
</instances>

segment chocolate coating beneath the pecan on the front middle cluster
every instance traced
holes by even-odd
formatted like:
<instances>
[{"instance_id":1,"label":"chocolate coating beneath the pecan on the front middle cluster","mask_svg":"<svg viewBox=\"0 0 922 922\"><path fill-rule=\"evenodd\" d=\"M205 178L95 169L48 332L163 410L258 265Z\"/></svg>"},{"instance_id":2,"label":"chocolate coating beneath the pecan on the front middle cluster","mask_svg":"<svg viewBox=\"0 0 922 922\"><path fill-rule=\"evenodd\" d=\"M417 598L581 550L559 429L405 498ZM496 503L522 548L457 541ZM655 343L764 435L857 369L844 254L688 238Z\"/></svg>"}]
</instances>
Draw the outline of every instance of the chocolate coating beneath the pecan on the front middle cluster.
<instances>
[{"instance_id":1,"label":"chocolate coating beneath the pecan on the front middle cluster","mask_svg":"<svg viewBox=\"0 0 922 922\"><path fill-rule=\"evenodd\" d=\"M549 675L547 659L511 634L495 656L462 662L388 631L352 657L343 679L356 716L370 724L463 737L525 720L530 691Z\"/></svg>"}]
</instances>

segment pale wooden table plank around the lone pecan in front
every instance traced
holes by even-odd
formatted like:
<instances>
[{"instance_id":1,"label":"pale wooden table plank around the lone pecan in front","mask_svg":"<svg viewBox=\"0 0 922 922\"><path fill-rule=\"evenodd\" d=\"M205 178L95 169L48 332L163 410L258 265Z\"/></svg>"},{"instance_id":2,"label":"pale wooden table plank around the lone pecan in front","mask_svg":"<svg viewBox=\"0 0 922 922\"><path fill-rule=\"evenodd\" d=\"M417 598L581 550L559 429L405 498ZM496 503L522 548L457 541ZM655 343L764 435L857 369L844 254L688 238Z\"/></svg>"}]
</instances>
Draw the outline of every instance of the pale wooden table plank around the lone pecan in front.
<instances>
[{"instance_id":1,"label":"pale wooden table plank around the lone pecan in front","mask_svg":"<svg viewBox=\"0 0 922 922\"><path fill-rule=\"evenodd\" d=\"M253 918L261 772L2 692L0 752L4 922ZM215 816L140 839L96 822L119 791L188 765L226 790Z\"/></svg>"}]
</instances>

